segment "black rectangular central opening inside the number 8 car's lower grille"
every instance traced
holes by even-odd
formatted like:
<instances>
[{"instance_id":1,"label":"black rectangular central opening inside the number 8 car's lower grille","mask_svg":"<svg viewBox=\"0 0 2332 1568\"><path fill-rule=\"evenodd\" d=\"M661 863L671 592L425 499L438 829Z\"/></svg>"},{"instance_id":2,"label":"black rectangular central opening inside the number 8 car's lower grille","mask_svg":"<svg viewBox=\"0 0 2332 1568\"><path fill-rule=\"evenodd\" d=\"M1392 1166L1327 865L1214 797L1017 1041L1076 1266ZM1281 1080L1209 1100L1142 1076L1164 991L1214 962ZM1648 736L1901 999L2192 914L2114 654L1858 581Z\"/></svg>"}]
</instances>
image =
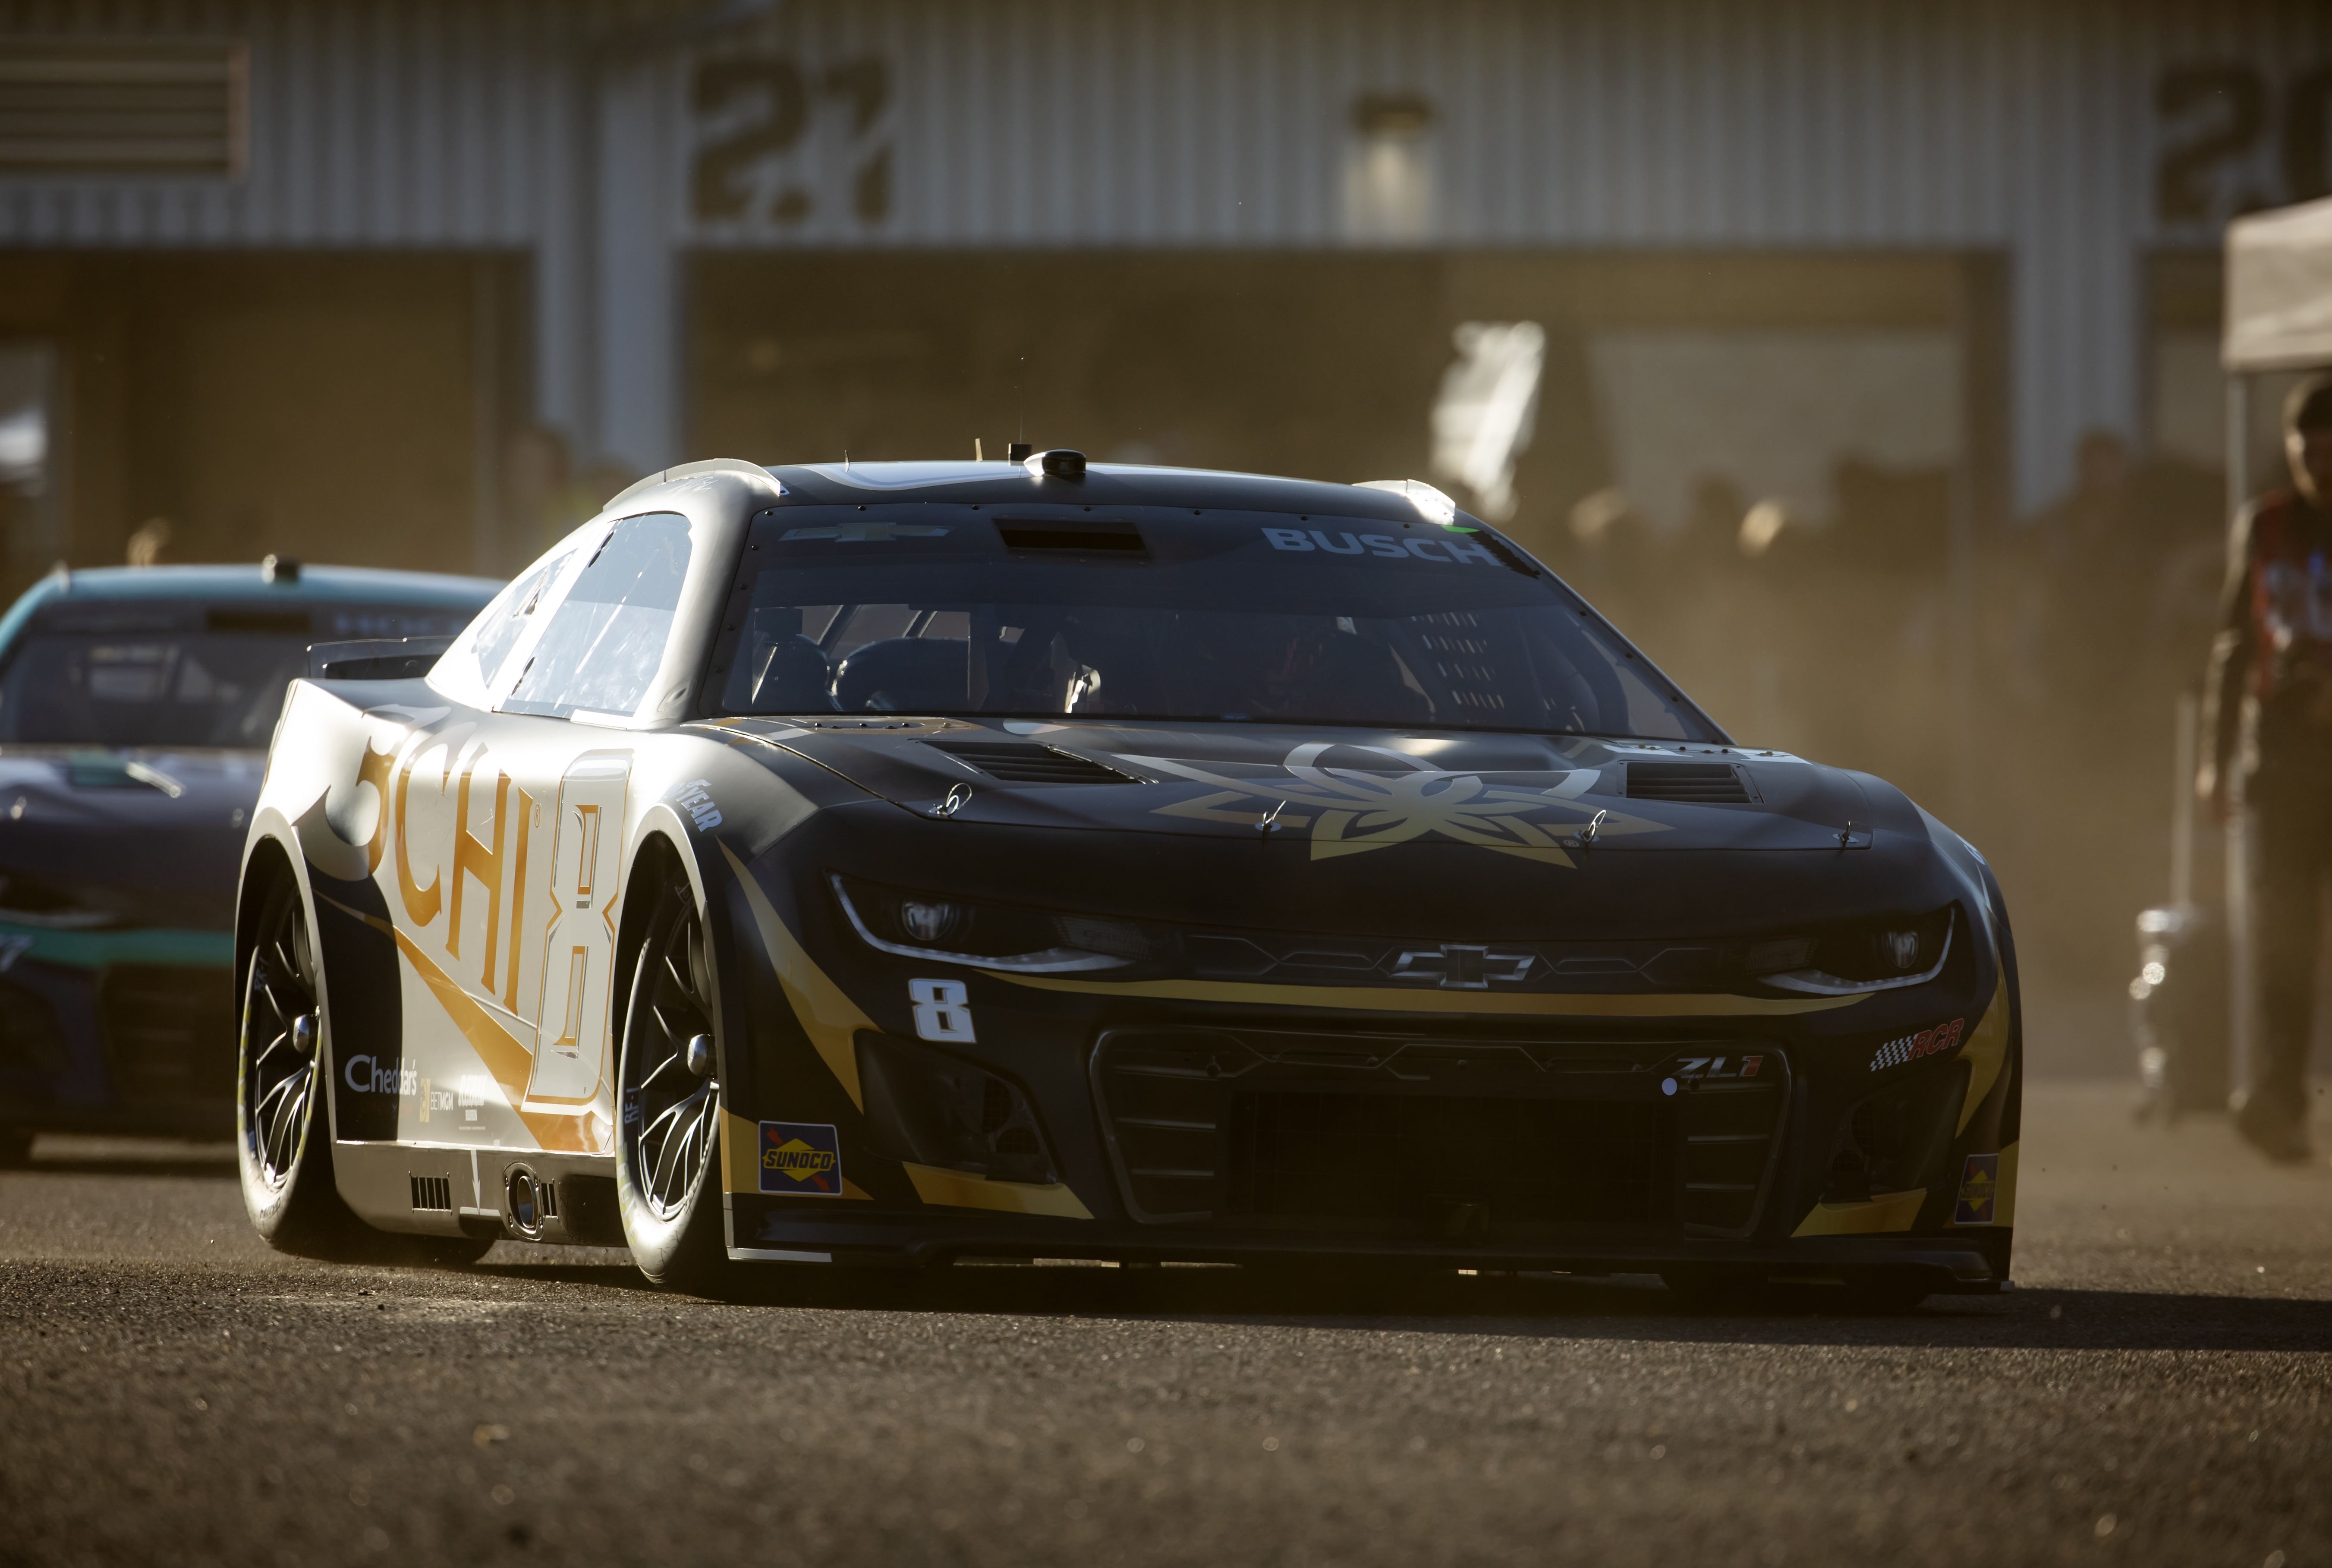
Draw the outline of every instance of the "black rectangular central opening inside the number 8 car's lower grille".
<instances>
[{"instance_id":1,"label":"black rectangular central opening inside the number 8 car's lower grille","mask_svg":"<svg viewBox=\"0 0 2332 1568\"><path fill-rule=\"evenodd\" d=\"M1231 1115L1234 1213L1434 1223L1481 1204L1488 1223L1644 1225L1660 1206L1651 1104L1238 1094Z\"/></svg>"}]
</instances>

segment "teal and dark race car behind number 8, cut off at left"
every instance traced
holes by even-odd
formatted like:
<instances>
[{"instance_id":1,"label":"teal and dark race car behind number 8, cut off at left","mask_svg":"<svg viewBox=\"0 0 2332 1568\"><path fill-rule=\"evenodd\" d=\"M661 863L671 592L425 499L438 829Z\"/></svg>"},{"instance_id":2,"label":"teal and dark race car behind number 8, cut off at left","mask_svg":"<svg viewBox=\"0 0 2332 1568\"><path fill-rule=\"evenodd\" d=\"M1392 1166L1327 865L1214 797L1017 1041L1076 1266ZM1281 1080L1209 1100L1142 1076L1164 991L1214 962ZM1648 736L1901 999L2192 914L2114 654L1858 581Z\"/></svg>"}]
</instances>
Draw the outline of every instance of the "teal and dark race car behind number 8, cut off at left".
<instances>
[{"instance_id":1,"label":"teal and dark race car behind number 8, cut off at left","mask_svg":"<svg viewBox=\"0 0 2332 1568\"><path fill-rule=\"evenodd\" d=\"M37 1132L236 1125L236 870L317 639L438 637L501 583L51 572L0 618L0 1162Z\"/></svg>"}]
</instances>

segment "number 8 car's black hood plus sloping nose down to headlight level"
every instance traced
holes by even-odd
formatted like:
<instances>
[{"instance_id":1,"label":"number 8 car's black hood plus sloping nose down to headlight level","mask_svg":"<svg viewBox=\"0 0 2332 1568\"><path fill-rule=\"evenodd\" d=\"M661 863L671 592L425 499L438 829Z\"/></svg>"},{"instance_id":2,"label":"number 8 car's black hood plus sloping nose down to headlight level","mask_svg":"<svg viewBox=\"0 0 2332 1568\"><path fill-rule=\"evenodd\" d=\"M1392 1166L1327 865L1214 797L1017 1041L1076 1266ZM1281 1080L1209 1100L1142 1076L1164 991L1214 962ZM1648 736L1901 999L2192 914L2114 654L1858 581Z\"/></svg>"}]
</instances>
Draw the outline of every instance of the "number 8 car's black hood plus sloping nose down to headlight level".
<instances>
[{"instance_id":1,"label":"number 8 car's black hood plus sloping nose down to headlight level","mask_svg":"<svg viewBox=\"0 0 2332 1568\"><path fill-rule=\"evenodd\" d=\"M1259 723L709 728L798 786L819 770L868 791L751 828L758 854L784 840L793 866L942 896L1451 943L1730 940L1978 903L1973 856L1903 793L1763 749ZM1716 768L1747 798L1644 798L1644 763Z\"/></svg>"}]
</instances>

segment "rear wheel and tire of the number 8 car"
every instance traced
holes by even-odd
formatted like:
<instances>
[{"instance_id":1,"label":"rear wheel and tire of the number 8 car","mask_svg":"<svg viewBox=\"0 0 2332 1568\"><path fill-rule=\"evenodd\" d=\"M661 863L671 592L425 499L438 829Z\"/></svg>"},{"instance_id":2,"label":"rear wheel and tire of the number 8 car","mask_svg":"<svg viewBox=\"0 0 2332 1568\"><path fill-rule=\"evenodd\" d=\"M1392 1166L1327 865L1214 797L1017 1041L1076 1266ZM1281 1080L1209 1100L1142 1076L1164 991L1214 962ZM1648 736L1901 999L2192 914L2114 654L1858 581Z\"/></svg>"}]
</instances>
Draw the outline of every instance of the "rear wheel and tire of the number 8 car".
<instances>
[{"instance_id":1,"label":"rear wheel and tire of the number 8 car","mask_svg":"<svg viewBox=\"0 0 2332 1568\"><path fill-rule=\"evenodd\" d=\"M308 912L298 889L280 880L259 905L236 1036L236 1169L252 1230L280 1253L326 1262L478 1262L492 1239L389 1234L340 1199L324 1108L326 1036Z\"/></svg>"}]
</instances>

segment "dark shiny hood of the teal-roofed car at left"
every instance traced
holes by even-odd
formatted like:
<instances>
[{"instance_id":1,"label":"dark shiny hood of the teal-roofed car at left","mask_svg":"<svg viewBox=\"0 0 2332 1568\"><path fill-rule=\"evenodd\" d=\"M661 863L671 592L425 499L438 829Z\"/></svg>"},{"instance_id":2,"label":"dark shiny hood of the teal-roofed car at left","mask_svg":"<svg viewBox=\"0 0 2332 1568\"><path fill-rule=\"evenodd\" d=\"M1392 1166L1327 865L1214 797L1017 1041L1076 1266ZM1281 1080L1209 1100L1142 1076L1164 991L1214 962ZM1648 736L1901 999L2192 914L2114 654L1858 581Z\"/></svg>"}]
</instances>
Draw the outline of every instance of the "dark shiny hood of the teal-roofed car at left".
<instances>
[{"instance_id":1,"label":"dark shiny hood of the teal-roofed car at left","mask_svg":"<svg viewBox=\"0 0 2332 1568\"><path fill-rule=\"evenodd\" d=\"M0 922L233 924L264 751L0 747Z\"/></svg>"}]
</instances>

